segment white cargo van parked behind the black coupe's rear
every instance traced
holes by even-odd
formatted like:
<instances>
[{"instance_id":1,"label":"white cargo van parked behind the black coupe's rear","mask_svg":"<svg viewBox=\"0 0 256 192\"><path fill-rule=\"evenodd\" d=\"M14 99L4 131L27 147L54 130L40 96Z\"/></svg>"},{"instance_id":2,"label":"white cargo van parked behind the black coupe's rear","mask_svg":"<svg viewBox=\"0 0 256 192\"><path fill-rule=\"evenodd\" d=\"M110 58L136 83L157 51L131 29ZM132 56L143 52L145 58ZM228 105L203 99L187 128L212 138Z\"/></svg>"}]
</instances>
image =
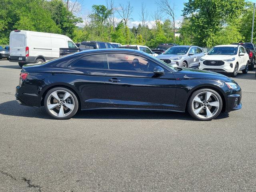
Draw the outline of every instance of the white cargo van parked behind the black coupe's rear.
<instances>
[{"instance_id":1,"label":"white cargo van parked behind the black coupe's rear","mask_svg":"<svg viewBox=\"0 0 256 192\"><path fill-rule=\"evenodd\" d=\"M60 56L60 48L77 48L65 35L14 30L10 33L10 62L22 67L27 63L42 63Z\"/></svg>"}]
</instances>

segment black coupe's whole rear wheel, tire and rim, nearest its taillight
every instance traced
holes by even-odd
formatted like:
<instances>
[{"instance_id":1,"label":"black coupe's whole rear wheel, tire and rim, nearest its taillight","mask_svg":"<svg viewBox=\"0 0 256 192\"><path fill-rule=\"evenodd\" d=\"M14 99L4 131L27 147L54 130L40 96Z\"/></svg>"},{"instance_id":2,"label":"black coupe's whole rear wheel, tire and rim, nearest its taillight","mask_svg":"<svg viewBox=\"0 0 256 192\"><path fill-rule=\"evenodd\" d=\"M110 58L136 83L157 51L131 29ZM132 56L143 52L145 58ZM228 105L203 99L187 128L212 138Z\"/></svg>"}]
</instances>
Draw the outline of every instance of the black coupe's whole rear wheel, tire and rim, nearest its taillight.
<instances>
[{"instance_id":1,"label":"black coupe's whole rear wheel, tire and rim, nearest its taillight","mask_svg":"<svg viewBox=\"0 0 256 192\"><path fill-rule=\"evenodd\" d=\"M44 98L46 112L56 119L70 119L78 110L78 99L69 89L56 87Z\"/></svg>"}]
</instances>

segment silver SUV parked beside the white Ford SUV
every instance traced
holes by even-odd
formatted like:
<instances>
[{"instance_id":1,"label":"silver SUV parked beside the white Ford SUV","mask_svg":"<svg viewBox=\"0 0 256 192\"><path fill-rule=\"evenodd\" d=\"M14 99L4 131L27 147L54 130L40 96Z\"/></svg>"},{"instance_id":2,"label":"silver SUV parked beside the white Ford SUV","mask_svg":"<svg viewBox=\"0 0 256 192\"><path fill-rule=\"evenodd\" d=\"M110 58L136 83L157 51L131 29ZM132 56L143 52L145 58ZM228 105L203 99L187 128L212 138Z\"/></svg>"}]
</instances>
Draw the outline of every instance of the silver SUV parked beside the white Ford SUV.
<instances>
[{"instance_id":1,"label":"silver SUV parked beside the white Ford SUV","mask_svg":"<svg viewBox=\"0 0 256 192\"><path fill-rule=\"evenodd\" d=\"M156 58L173 67L198 68L202 56L204 56L204 51L198 46L178 45L172 46Z\"/></svg>"}]
</instances>

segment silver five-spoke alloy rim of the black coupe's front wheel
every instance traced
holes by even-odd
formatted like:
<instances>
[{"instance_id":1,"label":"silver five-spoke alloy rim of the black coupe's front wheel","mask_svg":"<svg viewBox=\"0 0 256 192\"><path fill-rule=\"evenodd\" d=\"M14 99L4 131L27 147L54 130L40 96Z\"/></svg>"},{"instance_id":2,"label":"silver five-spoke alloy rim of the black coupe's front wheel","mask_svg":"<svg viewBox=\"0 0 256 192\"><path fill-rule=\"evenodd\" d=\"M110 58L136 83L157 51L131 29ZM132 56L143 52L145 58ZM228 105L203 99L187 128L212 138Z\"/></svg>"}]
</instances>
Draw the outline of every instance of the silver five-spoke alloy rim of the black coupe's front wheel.
<instances>
[{"instance_id":1,"label":"silver five-spoke alloy rim of the black coupe's front wheel","mask_svg":"<svg viewBox=\"0 0 256 192\"><path fill-rule=\"evenodd\" d=\"M192 110L199 118L208 119L214 116L220 108L218 97L209 91L197 94L192 102Z\"/></svg>"}]
</instances>

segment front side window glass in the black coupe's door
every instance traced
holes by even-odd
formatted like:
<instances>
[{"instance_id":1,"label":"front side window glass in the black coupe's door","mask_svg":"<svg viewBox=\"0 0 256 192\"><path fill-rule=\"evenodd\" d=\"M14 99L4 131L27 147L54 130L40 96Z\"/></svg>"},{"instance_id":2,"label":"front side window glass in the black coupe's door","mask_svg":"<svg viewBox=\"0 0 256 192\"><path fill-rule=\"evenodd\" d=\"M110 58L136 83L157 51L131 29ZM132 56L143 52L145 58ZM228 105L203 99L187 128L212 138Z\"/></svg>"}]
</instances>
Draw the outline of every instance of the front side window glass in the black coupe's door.
<instances>
[{"instance_id":1,"label":"front side window glass in the black coupe's door","mask_svg":"<svg viewBox=\"0 0 256 192\"><path fill-rule=\"evenodd\" d=\"M109 69L137 72L153 72L156 63L132 54L108 54Z\"/></svg>"}]
</instances>

